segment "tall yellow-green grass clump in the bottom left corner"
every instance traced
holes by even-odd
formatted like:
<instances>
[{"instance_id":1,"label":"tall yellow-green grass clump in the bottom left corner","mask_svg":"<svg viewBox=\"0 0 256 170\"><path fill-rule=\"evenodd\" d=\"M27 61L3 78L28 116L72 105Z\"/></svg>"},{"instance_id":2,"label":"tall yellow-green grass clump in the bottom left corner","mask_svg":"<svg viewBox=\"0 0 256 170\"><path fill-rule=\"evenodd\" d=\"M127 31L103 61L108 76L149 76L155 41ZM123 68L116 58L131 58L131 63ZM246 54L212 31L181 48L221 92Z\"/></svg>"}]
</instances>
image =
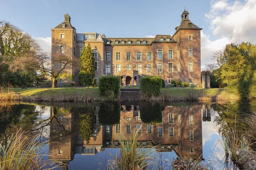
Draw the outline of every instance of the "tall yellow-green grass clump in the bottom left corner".
<instances>
[{"instance_id":1,"label":"tall yellow-green grass clump in the bottom left corner","mask_svg":"<svg viewBox=\"0 0 256 170\"><path fill-rule=\"evenodd\" d=\"M40 135L40 134L39 134ZM36 136L28 136L24 131L17 130L7 146L0 144L0 170L40 170L53 169L49 167L46 156L46 145L48 141L41 142Z\"/></svg>"}]
</instances>

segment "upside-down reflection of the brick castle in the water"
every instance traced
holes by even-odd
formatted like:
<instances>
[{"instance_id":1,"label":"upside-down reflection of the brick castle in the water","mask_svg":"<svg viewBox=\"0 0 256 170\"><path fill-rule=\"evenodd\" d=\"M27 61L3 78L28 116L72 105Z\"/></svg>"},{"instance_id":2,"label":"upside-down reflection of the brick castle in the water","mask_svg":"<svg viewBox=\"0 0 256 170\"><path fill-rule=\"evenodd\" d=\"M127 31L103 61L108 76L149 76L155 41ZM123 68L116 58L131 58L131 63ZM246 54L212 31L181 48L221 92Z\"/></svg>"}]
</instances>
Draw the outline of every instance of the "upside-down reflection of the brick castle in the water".
<instances>
[{"instance_id":1,"label":"upside-down reflection of the brick castle in the water","mask_svg":"<svg viewBox=\"0 0 256 170\"><path fill-rule=\"evenodd\" d=\"M101 105L94 105L89 109L52 107L51 116L56 119L52 119L50 125L50 160L69 164L75 154L93 156L104 152L105 148L116 148L119 146L117 136L124 135L128 139L134 128L141 129L138 145L142 142L147 142L146 146L159 144L158 152L174 151L177 156L199 157L203 154L202 121L211 121L210 105L171 104L150 107L142 103L119 103L120 115L117 118L120 121L116 125L101 124L100 107ZM94 114L93 133L88 143L81 138L78 122L82 112L91 111ZM157 115L158 111L162 116ZM154 116L158 116L156 119L162 117L162 120L158 123L148 123ZM108 115L106 117L115 119Z\"/></svg>"}]
</instances>

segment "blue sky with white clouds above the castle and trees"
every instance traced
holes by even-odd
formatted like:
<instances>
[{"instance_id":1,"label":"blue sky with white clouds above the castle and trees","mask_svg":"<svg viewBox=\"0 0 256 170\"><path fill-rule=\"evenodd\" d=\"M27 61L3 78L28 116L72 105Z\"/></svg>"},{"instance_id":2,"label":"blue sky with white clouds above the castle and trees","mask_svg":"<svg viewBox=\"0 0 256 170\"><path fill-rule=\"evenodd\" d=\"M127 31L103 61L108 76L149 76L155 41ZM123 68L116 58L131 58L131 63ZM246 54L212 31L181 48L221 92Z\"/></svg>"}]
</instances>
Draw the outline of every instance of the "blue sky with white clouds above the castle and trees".
<instances>
[{"instance_id":1,"label":"blue sky with white clouds above the castle and trees","mask_svg":"<svg viewBox=\"0 0 256 170\"><path fill-rule=\"evenodd\" d=\"M47 51L51 29L70 14L78 33L106 37L174 34L186 5L200 28L202 67L227 43L256 43L256 0L0 0L0 20L32 35Z\"/></svg>"}]
</instances>

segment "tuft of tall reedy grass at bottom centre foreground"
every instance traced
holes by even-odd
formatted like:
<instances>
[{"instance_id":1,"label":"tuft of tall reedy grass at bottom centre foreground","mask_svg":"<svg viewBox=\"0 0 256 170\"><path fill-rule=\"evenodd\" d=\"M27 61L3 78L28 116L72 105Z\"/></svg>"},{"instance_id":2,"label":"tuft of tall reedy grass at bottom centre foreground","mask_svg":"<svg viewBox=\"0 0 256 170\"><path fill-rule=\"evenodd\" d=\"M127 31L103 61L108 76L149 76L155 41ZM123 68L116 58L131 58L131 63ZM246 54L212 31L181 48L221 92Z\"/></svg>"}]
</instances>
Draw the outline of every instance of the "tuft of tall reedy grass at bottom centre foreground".
<instances>
[{"instance_id":1,"label":"tuft of tall reedy grass at bottom centre foreground","mask_svg":"<svg viewBox=\"0 0 256 170\"><path fill-rule=\"evenodd\" d=\"M145 146L145 143L141 143L139 146L137 142L140 139L140 130L132 130L128 139L121 134L116 136L119 140L120 153L113 157L112 163L108 164L108 169L111 170L150 170L154 167L160 168L160 157L157 157L157 151L155 147Z\"/></svg>"}]
</instances>

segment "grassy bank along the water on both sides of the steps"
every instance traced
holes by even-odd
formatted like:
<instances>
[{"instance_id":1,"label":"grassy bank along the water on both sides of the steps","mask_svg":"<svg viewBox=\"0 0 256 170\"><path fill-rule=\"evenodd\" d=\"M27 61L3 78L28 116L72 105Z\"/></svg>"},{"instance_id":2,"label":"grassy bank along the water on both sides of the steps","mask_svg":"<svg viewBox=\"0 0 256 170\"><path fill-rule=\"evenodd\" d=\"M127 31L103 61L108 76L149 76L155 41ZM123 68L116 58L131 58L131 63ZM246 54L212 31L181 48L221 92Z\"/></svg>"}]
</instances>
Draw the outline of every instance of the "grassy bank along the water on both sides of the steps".
<instances>
[{"instance_id":1,"label":"grassy bank along the water on both sides of the steps","mask_svg":"<svg viewBox=\"0 0 256 170\"><path fill-rule=\"evenodd\" d=\"M133 87L134 88L134 87ZM158 97L151 101L220 101L239 99L224 89L212 88L162 88ZM0 93L0 100L45 101L45 102L90 102L105 100L99 88L13 88L9 93Z\"/></svg>"}]
</instances>

